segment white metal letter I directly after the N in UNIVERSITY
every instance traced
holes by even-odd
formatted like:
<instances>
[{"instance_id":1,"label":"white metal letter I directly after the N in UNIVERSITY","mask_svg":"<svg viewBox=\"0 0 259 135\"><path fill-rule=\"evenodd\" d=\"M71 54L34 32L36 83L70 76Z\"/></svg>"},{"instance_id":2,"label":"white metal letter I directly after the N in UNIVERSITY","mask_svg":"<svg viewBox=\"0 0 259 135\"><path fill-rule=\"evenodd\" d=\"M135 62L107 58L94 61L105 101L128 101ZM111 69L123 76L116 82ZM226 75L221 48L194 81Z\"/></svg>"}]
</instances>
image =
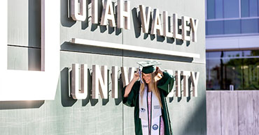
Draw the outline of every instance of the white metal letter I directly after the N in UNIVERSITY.
<instances>
[{"instance_id":1,"label":"white metal letter I directly after the N in UNIVERSITY","mask_svg":"<svg viewBox=\"0 0 259 135\"><path fill-rule=\"evenodd\" d=\"M118 98L118 67L117 66L112 66L111 67L111 81L112 81L112 97L113 98Z\"/></svg>"}]
</instances>

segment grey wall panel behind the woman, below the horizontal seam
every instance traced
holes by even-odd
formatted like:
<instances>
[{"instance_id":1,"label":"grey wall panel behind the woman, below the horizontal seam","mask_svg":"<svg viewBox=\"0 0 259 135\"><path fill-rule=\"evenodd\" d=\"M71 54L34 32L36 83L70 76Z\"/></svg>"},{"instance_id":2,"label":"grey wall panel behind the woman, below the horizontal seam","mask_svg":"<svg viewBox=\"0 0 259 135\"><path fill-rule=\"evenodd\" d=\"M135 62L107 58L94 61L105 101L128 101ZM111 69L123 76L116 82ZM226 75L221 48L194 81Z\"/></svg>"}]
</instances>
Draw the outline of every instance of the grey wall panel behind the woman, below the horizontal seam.
<instances>
[{"instance_id":1,"label":"grey wall panel behind the woman, below the horizontal seam","mask_svg":"<svg viewBox=\"0 0 259 135\"><path fill-rule=\"evenodd\" d=\"M123 58L123 66L138 67L138 61L145 58ZM206 128L206 99L205 99L205 65L158 60L162 70L186 70L200 72L198 81L198 97L170 97L167 98L169 115L174 134L207 134ZM190 88L189 88L190 89ZM134 131L134 108L123 107L124 134L130 135Z\"/></svg>"}]
</instances>

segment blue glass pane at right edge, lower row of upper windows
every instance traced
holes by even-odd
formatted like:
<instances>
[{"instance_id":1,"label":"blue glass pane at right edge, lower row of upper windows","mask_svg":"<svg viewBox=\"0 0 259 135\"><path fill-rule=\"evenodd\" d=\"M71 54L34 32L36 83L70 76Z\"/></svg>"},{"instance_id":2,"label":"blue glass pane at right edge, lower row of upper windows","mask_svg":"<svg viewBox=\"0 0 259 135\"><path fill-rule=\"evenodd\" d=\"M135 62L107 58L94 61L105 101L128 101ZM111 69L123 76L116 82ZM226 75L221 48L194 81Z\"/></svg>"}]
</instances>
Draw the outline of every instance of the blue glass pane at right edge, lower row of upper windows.
<instances>
[{"instance_id":1,"label":"blue glass pane at right edge, lower row of upper windows","mask_svg":"<svg viewBox=\"0 0 259 135\"><path fill-rule=\"evenodd\" d=\"M241 33L258 33L258 19L241 19Z\"/></svg>"}]
</instances>

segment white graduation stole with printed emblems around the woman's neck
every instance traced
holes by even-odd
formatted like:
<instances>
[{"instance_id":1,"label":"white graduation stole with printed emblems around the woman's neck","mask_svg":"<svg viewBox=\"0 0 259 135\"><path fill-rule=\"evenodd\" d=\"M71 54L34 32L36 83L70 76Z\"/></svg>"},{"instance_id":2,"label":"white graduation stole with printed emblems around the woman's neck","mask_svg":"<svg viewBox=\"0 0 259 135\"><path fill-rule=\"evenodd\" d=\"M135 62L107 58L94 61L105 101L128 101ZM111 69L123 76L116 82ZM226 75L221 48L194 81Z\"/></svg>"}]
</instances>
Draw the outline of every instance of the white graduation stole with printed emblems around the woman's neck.
<instances>
[{"instance_id":1,"label":"white graduation stole with printed emblems around the woman's neck","mask_svg":"<svg viewBox=\"0 0 259 135\"><path fill-rule=\"evenodd\" d=\"M151 97L151 126L148 122L148 88L144 90L143 99L139 95L139 118L141 118L141 128L143 135L158 135L160 134L160 116L162 116L161 107L158 97L152 93ZM149 128L151 127L151 134Z\"/></svg>"}]
</instances>

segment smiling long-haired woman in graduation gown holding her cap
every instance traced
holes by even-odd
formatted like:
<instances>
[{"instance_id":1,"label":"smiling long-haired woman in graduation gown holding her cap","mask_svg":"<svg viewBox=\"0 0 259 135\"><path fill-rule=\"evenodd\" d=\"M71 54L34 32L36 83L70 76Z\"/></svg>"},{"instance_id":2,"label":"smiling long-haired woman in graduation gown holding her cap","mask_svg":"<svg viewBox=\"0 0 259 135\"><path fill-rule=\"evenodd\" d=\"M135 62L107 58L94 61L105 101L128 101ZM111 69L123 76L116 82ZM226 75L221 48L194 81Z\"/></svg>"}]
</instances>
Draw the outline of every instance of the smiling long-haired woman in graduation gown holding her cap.
<instances>
[{"instance_id":1,"label":"smiling long-haired woman in graduation gown holding her cap","mask_svg":"<svg viewBox=\"0 0 259 135\"><path fill-rule=\"evenodd\" d=\"M166 97L174 77L154 65L158 64L144 65L142 73L134 73L130 84L123 88L123 104L134 106L135 134L172 135Z\"/></svg>"}]
</instances>

